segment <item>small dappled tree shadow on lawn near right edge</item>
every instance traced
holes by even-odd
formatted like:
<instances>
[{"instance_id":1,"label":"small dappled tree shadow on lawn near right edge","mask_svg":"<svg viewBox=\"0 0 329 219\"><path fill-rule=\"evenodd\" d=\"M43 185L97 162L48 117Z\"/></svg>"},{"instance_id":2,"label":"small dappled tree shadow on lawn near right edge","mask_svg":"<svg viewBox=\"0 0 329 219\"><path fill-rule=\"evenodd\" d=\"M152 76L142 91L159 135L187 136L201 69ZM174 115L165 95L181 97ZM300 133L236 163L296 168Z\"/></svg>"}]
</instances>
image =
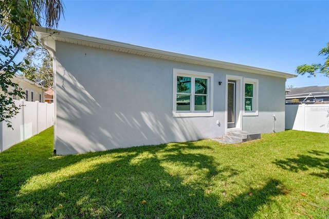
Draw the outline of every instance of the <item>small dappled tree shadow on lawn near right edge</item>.
<instances>
[{"instance_id":1,"label":"small dappled tree shadow on lawn near right edge","mask_svg":"<svg viewBox=\"0 0 329 219\"><path fill-rule=\"evenodd\" d=\"M318 169L319 173L310 173L310 175L329 178L329 153L323 151L312 150L308 151L307 155L297 155L296 158L286 158L276 160L277 166L284 170L292 172L307 171L310 168Z\"/></svg>"}]
</instances>

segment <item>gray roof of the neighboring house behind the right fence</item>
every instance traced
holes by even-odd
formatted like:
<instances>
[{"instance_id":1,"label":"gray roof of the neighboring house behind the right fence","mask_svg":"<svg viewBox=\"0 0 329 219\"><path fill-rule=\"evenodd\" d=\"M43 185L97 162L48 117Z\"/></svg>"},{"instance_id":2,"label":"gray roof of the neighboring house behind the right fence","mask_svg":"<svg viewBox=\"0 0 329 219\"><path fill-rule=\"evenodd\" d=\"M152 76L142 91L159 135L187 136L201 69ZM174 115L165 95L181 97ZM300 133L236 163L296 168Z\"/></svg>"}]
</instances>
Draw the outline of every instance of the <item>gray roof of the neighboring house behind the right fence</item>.
<instances>
[{"instance_id":1,"label":"gray roof of the neighboring house behind the right fence","mask_svg":"<svg viewBox=\"0 0 329 219\"><path fill-rule=\"evenodd\" d=\"M329 86L308 86L289 88L286 99L310 97L329 97Z\"/></svg>"}]
</instances>

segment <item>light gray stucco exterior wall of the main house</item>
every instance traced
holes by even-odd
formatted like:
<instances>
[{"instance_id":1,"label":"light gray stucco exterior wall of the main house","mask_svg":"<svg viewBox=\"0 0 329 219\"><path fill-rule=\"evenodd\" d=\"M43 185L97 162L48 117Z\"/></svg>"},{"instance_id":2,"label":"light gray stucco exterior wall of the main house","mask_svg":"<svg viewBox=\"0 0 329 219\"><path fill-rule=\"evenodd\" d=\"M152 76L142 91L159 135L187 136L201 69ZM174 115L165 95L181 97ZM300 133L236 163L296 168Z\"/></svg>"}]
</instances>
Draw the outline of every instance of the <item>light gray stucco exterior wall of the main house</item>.
<instances>
[{"instance_id":1,"label":"light gray stucco exterior wall of the main house","mask_svg":"<svg viewBox=\"0 0 329 219\"><path fill-rule=\"evenodd\" d=\"M243 116L244 130L272 132L275 114L276 131L284 131L283 78L62 42L53 60L57 154L221 137L226 75L259 80L259 115ZM213 116L173 117L174 68L213 74Z\"/></svg>"}]
</instances>

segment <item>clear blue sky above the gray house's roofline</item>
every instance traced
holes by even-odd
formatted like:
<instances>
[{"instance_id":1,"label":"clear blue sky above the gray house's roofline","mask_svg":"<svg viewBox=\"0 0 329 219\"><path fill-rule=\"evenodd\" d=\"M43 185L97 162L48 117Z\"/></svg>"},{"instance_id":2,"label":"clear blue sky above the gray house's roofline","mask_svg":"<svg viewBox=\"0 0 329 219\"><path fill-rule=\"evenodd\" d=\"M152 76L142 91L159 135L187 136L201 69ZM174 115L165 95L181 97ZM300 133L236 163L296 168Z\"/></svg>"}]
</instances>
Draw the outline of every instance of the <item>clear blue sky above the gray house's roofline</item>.
<instances>
[{"instance_id":1,"label":"clear blue sky above the gray house's roofline","mask_svg":"<svg viewBox=\"0 0 329 219\"><path fill-rule=\"evenodd\" d=\"M323 63L329 1L64 1L59 30L293 74ZM286 85L329 86L318 75Z\"/></svg>"}]
</instances>

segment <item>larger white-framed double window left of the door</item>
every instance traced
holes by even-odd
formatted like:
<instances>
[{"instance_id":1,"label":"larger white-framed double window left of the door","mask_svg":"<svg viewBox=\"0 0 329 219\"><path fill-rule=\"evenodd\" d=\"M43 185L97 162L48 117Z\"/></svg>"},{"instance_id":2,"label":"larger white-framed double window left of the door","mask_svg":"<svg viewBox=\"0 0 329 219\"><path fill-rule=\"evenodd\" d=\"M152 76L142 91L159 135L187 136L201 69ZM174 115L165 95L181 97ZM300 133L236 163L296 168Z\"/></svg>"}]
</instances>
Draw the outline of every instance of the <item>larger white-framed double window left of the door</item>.
<instances>
[{"instance_id":1,"label":"larger white-framed double window left of the door","mask_svg":"<svg viewBox=\"0 0 329 219\"><path fill-rule=\"evenodd\" d=\"M173 116L213 116L213 74L174 69Z\"/></svg>"}]
</instances>

